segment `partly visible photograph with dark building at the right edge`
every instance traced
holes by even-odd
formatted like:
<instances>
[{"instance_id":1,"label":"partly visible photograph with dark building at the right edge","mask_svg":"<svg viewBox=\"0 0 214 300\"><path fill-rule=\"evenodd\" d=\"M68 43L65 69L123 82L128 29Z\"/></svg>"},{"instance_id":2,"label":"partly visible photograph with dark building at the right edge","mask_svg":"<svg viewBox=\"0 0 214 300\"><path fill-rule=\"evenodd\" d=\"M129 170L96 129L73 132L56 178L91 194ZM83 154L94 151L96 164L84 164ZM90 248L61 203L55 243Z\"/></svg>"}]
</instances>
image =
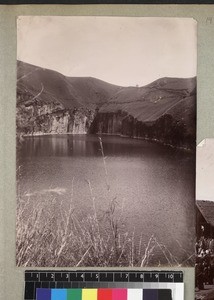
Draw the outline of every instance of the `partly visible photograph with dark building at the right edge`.
<instances>
[{"instance_id":1,"label":"partly visible photograph with dark building at the right edge","mask_svg":"<svg viewBox=\"0 0 214 300\"><path fill-rule=\"evenodd\" d=\"M214 139L197 146L195 299L214 299Z\"/></svg>"}]
</instances>

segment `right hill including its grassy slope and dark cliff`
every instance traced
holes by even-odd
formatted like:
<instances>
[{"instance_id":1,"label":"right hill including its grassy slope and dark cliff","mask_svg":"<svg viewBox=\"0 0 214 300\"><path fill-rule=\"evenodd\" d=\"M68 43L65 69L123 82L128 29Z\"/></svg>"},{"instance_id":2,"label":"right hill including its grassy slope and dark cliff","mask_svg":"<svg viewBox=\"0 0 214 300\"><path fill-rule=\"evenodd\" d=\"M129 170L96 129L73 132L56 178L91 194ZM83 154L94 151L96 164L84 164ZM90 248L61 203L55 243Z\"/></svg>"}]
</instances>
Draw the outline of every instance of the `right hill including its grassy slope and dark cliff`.
<instances>
[{"instance_id":1,"label":"right hill including its grassy slope and dark cliff","mask_svg":"<svg viewBox=\"0 0 214 300\"><path fill-rule=\"evenodd\" d=\"M100 108L91 128L194 148L195 114L196 79L161 78L115 93Z\"/></svg>"}]
</instances>

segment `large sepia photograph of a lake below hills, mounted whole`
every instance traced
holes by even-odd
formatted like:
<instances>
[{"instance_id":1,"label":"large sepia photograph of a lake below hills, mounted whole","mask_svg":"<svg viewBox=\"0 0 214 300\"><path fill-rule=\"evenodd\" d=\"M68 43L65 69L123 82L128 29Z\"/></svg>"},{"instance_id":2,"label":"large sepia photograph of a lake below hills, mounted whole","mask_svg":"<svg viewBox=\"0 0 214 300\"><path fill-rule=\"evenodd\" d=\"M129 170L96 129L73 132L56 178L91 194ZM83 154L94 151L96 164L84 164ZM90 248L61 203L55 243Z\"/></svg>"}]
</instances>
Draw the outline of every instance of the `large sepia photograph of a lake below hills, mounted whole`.
<instances>
[{"instance_id":1,"label":"large sepia photograph of a lake below hills, mounted whole","mask_svg":"<svg viewBox=\"0 0 214 300\"><path fill-rule=\"evenodd\" d=\"M196 69L192 18L18 17L17 266L194 267Z\"/></svg>"}]
</instances>

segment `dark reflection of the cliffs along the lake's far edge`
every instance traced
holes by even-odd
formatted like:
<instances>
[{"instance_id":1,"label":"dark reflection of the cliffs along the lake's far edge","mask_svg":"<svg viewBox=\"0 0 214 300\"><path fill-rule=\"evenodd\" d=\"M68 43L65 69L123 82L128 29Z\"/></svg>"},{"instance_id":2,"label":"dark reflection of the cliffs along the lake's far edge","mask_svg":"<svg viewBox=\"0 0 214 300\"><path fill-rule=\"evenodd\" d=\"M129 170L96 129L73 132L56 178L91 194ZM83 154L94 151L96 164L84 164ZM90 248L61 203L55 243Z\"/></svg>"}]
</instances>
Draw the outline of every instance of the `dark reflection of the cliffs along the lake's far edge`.
<instances>
[{"instance_id":1,"label":"dark reflection of the cliffs along the lake's far edge","mask_svg":"<svg viewBox=\"0 0 214 300\"><path fill-rule=\"evenodd\" d=\"M142 140L117 136L102 136L105 154L109 156L147 156L181 157L180 151L149 143ZM151 151L152 149L152 151ZM21 156L100 156L98 136L87 135L51 135L25 138Z\"/></svg>"}]
</instances>

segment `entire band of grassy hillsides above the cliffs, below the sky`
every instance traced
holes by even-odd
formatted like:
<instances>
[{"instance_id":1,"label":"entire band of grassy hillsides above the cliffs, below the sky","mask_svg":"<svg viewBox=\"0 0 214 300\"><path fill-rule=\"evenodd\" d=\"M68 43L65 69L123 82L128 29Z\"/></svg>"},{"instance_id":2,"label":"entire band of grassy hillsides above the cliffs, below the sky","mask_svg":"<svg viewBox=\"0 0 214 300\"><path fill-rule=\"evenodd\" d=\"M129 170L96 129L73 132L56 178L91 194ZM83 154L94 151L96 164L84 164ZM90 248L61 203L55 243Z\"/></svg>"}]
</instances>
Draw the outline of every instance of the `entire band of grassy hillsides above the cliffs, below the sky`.
<instances>
[{"instance_id":1,"label":"entire band of grassy hillsides above the cliffs, below the sky","mask_svg":"<svg viewBox=\"0 0 214 300\"><path fill-rule=\"evenodd\" d=\"M60 102L65 108L100 107L101 113L122 110L139 121L150 122L165 114L193 124L195 78L161 78L144 87L120 87L92 77L66 77L62 74L18 62L20 93L40 95L43 102Z\"/></svg>"}]
</instances>

